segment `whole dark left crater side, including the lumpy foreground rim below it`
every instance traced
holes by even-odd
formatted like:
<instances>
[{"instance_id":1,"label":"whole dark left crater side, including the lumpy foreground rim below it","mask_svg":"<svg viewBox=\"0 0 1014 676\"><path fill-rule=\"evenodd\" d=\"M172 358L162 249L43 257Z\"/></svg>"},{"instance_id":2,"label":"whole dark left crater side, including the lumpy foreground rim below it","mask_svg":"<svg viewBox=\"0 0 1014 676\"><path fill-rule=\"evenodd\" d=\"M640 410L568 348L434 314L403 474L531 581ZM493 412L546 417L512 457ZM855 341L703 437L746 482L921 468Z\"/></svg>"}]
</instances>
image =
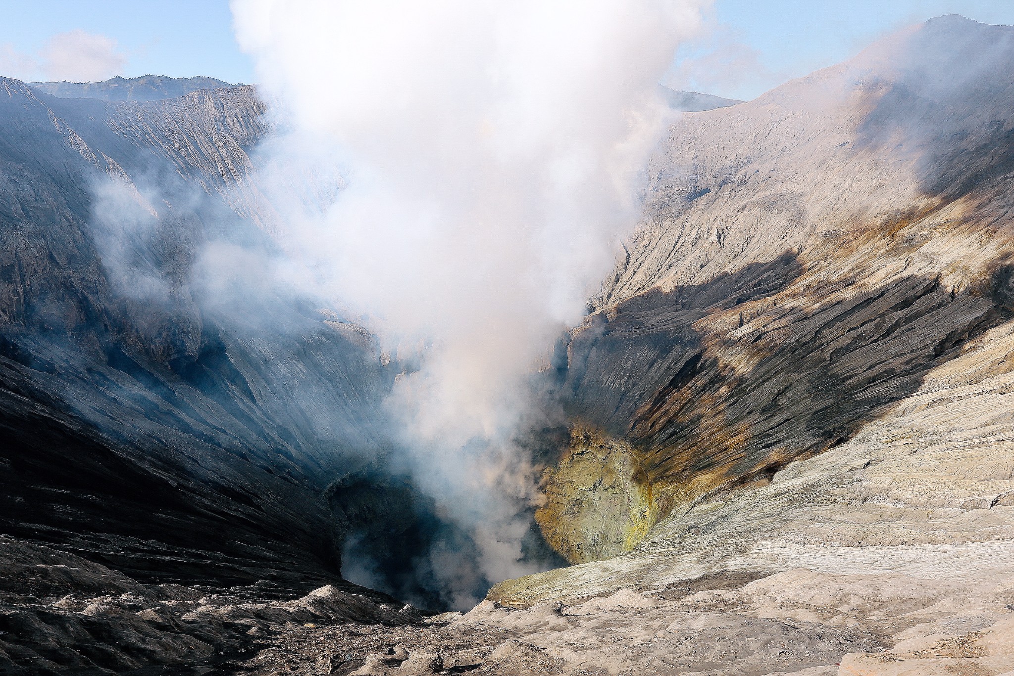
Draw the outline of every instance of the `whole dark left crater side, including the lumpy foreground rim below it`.
<instances>
[{"instance_id":1,"label":"whole dark left crater side, including the lumpy foreground rim below it","mask_svg":"<svg viewBox=\"0 0 1014 676\"><path fill-rule=\"evenodd\" d=\"M236 190L263 111L251 87L110 102L0 80L0 670L210 664L262 625L394 603L341 579L362 515L330 503L384 452L401 367L256 269L201 267L270 255ZM197 603L222 594L240 600Z\"/></svg>"}]
</instances>

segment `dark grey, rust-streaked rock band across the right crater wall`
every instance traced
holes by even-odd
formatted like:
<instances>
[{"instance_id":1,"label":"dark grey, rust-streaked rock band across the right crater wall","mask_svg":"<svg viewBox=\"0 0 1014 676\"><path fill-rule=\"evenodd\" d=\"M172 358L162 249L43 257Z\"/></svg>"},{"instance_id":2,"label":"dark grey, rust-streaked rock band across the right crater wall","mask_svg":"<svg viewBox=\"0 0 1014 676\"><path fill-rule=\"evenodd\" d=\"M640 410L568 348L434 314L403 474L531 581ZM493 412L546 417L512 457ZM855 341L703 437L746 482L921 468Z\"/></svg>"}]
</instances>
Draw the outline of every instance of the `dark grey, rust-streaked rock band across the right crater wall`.
<instances>
[{"instance_id":1,"label":"dark grey, rust-streaked rock band across the right crater wall","mask_svg":"<svg viewBox=\"0 0 1014 676\"><path fill-rule=\"evenodd\" d=\"M578 424L630 444L662 518L851 438L1011 316L1010 270L956 293L922 275L817 278L786 253L593 315L561 391Z\"/></svg>"}]
</instances>

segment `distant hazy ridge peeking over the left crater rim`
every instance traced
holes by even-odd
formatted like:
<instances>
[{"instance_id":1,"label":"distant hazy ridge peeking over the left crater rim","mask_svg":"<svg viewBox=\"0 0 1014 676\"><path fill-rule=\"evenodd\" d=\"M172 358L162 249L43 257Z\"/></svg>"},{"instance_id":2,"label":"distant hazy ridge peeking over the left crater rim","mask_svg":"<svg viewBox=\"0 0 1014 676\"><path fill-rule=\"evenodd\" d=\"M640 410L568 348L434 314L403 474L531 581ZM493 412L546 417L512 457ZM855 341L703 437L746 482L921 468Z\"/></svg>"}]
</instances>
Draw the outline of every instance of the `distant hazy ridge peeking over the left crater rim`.
<instances>
[{"instance_id":1,"label":"distant hazy ridge peeking over the left crater rim","mask_svg":"<svg viewBox=\"0 0 1014 676\"><path fill-rule=\"evenodd\" d=\"M141 77L110 78L104 82L26 82L30 87L60 98L99 98L106 101L157 101L175 98L198 89L229 89L241 86L205 77L168 77L142 75Z\"/></svg>"}]
</instances>

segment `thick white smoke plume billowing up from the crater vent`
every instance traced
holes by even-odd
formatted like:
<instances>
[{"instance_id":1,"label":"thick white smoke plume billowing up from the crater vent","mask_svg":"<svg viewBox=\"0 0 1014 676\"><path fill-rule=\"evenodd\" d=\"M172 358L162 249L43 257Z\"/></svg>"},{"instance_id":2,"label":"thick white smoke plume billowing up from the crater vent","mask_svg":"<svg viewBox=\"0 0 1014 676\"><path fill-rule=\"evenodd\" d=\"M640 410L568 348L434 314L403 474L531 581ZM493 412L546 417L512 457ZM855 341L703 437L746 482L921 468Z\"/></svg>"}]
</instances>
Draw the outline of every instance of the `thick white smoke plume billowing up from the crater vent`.
<instances>
[{"instance_id":1,"label":"thick white smoke plume billowing up from the crater vent","mask_svg":"<svg viewBox=\"0 0 1014 676\"><path fill-rule=\"evenodd\" d=\"M232 4L291 130L262 187L288 193L278 167L291 176L304 149L310 167L334 149L343 176L339 191L299 191L333 196L321 209L274 201L292 276L379 318L371 327L390 345L426 342L422 370L391 395L405 462L468 529L488 581L533 572L517 515L534 479L513 443L540 416L526 382L561 327L580 321L637 218L667 122L658 81L708 4ZM447 550L431 559L451 602L474 603L476 572Z\"/></svg>"}]
</instances>

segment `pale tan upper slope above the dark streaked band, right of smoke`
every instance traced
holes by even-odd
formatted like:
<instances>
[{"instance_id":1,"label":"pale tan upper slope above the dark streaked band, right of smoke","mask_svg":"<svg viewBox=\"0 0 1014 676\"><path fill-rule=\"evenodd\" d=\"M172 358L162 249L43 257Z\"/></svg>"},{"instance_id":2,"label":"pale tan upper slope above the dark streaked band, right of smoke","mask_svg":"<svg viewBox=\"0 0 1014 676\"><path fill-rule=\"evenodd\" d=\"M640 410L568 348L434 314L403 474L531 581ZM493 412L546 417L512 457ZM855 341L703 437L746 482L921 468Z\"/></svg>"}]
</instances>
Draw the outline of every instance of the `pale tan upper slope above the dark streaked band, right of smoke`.
<instances>
[{"instance_id":1,"label":"pale tan upper slope above the dark streaked band, right of smoke","mask_svg":"<svg viewBox=\"0 0 1014 676\"><path fill-rule=\"evenodd\" d=\"M680 120L650 160L644 221L599 303L825 249L1002 190L1009 41L1008 26L941 17ZM985 43L997 47L979 50Z\"/></svg>"}]
</instances>

